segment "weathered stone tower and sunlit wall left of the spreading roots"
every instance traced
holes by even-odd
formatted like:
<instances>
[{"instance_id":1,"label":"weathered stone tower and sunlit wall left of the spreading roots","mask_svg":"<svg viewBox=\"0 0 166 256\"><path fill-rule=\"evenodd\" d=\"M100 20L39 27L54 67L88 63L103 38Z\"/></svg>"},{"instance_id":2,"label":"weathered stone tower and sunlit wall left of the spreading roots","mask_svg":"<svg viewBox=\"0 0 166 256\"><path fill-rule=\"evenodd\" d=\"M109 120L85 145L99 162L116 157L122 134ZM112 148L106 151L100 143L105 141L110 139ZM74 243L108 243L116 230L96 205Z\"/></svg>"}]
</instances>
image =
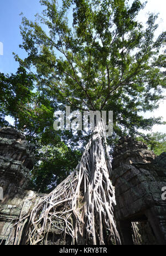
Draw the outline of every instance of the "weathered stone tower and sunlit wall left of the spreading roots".
<instances>
[{"instance_id":1,"label":"weathered stone tower and sunlit wall left of the spreading roots","mask_svg":"<svg viewBox=\"0 0 166 256\"><path fill-rule=\"evenodd\" d=\"M25 199L43 194L26 190L33 169L34 145L28 144L23 132L11 127L0 129L0 244L12 244L11 227L30 204Z\"/></svg>"}]
</instances>

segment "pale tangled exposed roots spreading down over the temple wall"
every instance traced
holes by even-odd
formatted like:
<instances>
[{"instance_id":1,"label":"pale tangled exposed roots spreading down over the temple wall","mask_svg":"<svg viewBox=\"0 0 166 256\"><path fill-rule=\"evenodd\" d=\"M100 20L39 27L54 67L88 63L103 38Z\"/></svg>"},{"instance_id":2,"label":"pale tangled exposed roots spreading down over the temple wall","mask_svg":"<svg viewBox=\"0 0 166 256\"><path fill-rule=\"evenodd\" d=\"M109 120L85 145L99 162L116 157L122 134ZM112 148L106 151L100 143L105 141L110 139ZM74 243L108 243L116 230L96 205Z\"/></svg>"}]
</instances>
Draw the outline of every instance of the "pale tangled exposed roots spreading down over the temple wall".
<instances>
[{"instance_id":1,"label":"pale tangled exposed roots spreading down over the temple wall","mask_svg":"<svg viewBox=\"0 0 166 256\"><path fill-rule=\"evenodd\" d=\"M14 244L47 244L50 232L70 244L120 244L113 216L114 188L102 123L94 130L80 164L20 219ZM34 199L32 199L34 200Z\"/></svg>"}]
</instances>

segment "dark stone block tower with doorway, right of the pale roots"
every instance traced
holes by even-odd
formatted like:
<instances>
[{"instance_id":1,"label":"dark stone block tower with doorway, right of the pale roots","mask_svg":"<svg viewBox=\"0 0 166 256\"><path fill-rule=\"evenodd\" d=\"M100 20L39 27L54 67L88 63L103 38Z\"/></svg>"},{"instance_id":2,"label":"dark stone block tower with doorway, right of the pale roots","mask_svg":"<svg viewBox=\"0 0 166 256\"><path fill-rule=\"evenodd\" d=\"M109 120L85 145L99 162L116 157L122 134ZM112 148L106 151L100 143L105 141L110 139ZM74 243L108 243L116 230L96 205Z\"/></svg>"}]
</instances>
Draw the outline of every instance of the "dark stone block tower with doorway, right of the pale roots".
<instances>
[{"instance_id":1,"label":"dark stone block tower with doorway, right of the pale roots","mask_svg":"<svg viewBox=\"0 0 166 256\"><path fill-rule=\"evenodd\" d=\"M144 227L143 243L166 244L166 200L162 199L166 153L155 157L143 142L122 137L113 154L112 170L123 244L133 244L132 223L136 222Z\"/></svg>"}]
</instances>

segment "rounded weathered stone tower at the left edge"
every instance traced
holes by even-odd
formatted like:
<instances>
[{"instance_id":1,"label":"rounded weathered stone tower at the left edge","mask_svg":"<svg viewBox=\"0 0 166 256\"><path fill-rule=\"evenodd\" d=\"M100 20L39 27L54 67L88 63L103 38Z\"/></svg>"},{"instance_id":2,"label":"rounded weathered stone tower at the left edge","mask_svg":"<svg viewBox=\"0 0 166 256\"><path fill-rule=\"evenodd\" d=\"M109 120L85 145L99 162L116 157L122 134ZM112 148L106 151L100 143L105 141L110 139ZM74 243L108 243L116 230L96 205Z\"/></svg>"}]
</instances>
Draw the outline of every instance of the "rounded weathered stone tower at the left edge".
<instances>
[{"instance_id":1,"label":"rounded weathered stone tower at the left edge","mask_svg":"<svg viewBox=\"0 0 166 256\"><path fill-rule=\"evenodd\" d=\"M0 129L1 203L26 188L34 164L33 147L25 140L23 132L11 127Z\"/></svg>"}]
</instances>

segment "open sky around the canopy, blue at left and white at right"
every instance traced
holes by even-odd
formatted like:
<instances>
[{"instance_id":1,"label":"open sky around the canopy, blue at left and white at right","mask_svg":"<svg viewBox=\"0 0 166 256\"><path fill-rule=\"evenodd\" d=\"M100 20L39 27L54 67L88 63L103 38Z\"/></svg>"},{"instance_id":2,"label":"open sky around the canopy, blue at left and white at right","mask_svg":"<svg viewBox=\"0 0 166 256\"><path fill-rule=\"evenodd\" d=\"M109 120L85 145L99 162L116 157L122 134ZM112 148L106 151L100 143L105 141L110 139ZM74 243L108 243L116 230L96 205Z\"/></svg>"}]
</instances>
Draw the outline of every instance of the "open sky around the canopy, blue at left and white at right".
<instances>
[{"instance_id":1,"label":"open sky around the canopy, blue at left and white at right","mask_svg":"<svg viewBox=\"0 0 166 256\"><path fill-rule=\"evenodd\" d=\"M22 17L19 16L23 12L24 16L28 19L34 19L36 13L42 11L42 6L39 0L0 0L0 48L1 42L3 43L3 55L1 55L0 49L0 72L3 73L15 73L18 68L18 63L15 62L12 52L17 53L21 58L26 56L26 53L19 48L22 43L22 37L20 36L19 26L22 22ZM131 2L132 0L129 0ZM143 1L143 0L142 0ZM138 19L143 23L147 20L147 13L154 12L160 13L158 21L159 33L165 31L166 24L166 1L165 0L148 0L147 6L139 13ZM157 35L157 36L158 36ZM166 95L166 92L165 92ZM166 102L161 102L158 110L154 112L147 112L146 117L158 117L163 116L166 121ZM166 125L153 127L153 131L166 132Z\"/></svg>"}]
</instances>

